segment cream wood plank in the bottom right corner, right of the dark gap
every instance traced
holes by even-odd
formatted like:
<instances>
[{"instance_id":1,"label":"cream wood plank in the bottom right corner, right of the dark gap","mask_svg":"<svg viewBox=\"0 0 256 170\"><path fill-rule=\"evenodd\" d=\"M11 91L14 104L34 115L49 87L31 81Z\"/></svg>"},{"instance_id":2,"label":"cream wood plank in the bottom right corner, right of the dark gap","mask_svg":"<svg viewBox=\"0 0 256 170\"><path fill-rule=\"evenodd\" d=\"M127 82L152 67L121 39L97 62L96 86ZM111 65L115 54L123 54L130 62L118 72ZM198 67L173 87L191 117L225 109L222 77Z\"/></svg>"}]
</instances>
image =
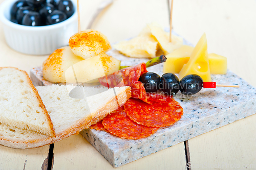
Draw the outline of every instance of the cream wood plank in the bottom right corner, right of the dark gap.
<instances>
[{"instance_id":1,"label":"cream wood plank in the bottom right corner, right of the dark gap","mask_svg":"<svg viewBox=\"0 0 256 170\"><path fill-rule=\"evenodd\" d=\"M255 122L252 115L188 140L191 169L256 169Z\"/></svg>"}]
</instances>

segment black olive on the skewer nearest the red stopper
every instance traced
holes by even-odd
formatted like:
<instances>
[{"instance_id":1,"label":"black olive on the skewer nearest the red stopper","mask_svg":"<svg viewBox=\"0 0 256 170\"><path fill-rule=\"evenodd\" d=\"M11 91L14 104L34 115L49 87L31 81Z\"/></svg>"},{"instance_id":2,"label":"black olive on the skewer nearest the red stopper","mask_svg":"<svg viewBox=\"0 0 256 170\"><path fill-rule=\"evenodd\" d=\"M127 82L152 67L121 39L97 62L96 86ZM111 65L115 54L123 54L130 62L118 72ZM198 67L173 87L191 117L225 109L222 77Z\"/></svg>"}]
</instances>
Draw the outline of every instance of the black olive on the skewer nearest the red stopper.
<instances>
[{"instance_id":1,"label":"black olive on the skewer nearest the red stopper","mask_svg":"<svg viewBox=\"0 0 256 170\"><path fill-rule=\"evenodd\" d=\"M187 75L180 81L180 91L186 95L196 94L202 87L203 79L198 75Z\"/></svg>"}]
</instances>

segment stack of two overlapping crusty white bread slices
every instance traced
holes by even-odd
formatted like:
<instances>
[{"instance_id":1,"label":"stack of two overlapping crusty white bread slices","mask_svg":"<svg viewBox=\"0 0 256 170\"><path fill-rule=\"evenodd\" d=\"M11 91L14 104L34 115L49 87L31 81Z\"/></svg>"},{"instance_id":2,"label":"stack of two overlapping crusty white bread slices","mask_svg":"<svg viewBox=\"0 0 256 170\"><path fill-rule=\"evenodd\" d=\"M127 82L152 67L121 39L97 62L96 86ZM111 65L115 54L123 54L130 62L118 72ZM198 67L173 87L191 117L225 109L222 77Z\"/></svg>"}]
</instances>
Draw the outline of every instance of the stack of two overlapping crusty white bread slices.
<instances>
[{"instance_id":1,"label":"stack of two overlapping crusty white bread slices","mask_svg":"<svg viewBox=\"0 0 256 170\"><path fill-rule=\"evenodd\" d=\"M36 90L25 71L10 67L0 68L0 87L0 144L19 149L77 134L131 97L130 87L52 85Z\"/></svg>"}]
</instances>

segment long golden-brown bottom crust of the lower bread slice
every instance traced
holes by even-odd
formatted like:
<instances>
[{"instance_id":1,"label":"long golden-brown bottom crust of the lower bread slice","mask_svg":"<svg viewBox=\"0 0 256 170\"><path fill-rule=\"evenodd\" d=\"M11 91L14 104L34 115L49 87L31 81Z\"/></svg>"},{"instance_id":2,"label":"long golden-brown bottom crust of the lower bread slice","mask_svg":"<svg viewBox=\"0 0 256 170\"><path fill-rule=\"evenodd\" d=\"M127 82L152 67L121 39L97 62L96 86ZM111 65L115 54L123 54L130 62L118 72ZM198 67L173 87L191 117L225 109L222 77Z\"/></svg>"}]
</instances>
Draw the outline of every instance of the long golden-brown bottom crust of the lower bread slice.
<instances>
[{"instance_id":1,"label":"long golden-brown bottom crust of the lower bread slice","mask_svg":"<svg viewBox=\"0 0 256 170\"><path fill-rule=\"evenodd\" d=\"M48 137L45 139L38 140L28 140L28 141L18 141L18 140L9 140L4 138L4 136L0 136L0 144L5 145L6 147L16 148L16 149L27 149L27 148L38 148L47 144L55 143L62 139L65 139L71 135L78 134L81 130L89 128L91 125L96 124L100 120L102 120L106 115L108 115L112 110L116 108L116 101L121 104L124 104L127 100L131 98L131 87L127 87L124 92L119 93L117 96L114 96L111 100L109 100L106 105L97 110L95 113L91 115L96 115L92 117L91 115L86 118L81 118L75 125L73 125L70 129L56 134L56 137Z\"/></svg>"}]
</instances>

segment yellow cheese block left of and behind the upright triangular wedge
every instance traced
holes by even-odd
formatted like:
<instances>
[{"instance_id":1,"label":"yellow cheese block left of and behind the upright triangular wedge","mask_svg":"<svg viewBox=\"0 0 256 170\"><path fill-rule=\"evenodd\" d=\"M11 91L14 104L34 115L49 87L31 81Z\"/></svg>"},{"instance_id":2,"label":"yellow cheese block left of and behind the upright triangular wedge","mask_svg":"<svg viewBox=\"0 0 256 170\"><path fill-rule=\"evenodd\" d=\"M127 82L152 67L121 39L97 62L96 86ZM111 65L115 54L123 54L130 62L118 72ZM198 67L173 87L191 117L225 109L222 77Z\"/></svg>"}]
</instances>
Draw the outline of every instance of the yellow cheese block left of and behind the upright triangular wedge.
<instances>
[{"instance_id":1,"label":"yellow cheese block left of and behind the upright triangular wedge","mask_svg":"<svg viewBox=\"0 0 256 170\"><path fill-rule=\"evenodd\" d=\"M183 45L173 53L166 55L167 60L163 63L163 73L179 73L183 65L188 62L193 50L193 46Z\"/></svg>"}]
</instances>

